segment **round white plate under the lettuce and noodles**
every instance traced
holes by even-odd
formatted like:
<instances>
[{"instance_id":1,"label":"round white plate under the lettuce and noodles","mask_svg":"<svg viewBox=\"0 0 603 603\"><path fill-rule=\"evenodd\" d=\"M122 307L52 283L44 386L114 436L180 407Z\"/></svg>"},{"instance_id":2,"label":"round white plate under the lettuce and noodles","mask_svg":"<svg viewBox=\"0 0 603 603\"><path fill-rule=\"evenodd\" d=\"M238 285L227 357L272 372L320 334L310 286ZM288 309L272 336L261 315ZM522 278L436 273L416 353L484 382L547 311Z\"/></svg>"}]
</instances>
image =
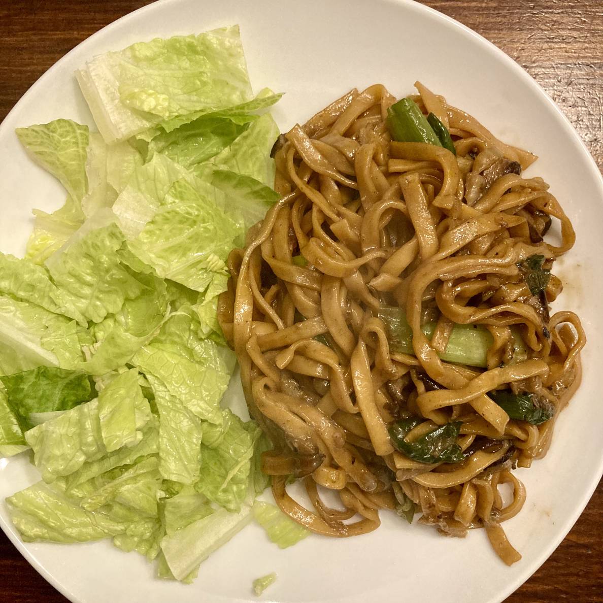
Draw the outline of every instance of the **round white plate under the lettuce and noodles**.
<instances>
[{"instance_id":1,"label":"round white plate under the lettuce and noodles","mask_svg":"<svg viewBox=\"0 0 603 603\"><path fill-rule=\"evenodd\" d=\"M68 15L65 16L68 19ZM511 144L541 159L542 175L569 213L576 247L559 262L566 283L560 305L582 317L587 333L603 332L601 240L603 182L586 148L543 90L510 58L477 34L423 5L405 0L165 0L142 8L81 43L34 84L0 127L0 248L22 253L30 210L52 210L60 186L36 168L14 128L67 117L92 124L73 77L93 55L155 36L198 33L238 23L256 90L286 96L274 110L283 130L351 87L382 82L394 94L420 78ZM276 571L264 600L346 603L419 600L497 602L522 584L554 551L578 518L603 472L603 405L597 379L602 352L584 352L584 381L557 423L552 450L517 472L528 489L522 513L505 523L523 560L504 566L483 531L464 540L408 526L382 513L384 525L341 541L310 537L280 551L249 526L203 563L194 586L153 578L153 567L108 543L21 543L4 505L0 525L27 559L74 602L180 603L253 601L251 581ZM0 461L0 497L38 479L23 458Z\"/></svg>"}]
</instances>

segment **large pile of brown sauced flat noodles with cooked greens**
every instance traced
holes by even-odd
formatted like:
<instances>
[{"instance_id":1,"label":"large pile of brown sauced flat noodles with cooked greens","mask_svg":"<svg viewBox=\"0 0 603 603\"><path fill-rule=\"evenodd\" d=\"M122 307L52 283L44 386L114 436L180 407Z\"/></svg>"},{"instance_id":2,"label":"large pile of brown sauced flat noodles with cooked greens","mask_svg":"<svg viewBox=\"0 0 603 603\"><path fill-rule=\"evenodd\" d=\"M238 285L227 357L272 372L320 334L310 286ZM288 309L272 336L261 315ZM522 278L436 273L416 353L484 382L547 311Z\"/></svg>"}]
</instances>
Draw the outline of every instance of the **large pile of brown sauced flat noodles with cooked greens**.
<instances>
[{"instance_id":1,"label":"large pile of brown sauced flat noodles with cooked greens","mask_svg":"<svg viewBox=\"0 0 603 603\"><path fill-rule=\"evenodd\" d=\"M511 564L500 524L526 499L512 470L545 455L581 374L579 317L549 312L575 233L549 186L522 176L535 156L415 86L456 154L392 140L382 84L295 125L274 148L282 200L232 252L219 320L283 512L334 537L376 529L380 510L420 513L450 536L485 528Z\"/></svg>"}]
</instances>

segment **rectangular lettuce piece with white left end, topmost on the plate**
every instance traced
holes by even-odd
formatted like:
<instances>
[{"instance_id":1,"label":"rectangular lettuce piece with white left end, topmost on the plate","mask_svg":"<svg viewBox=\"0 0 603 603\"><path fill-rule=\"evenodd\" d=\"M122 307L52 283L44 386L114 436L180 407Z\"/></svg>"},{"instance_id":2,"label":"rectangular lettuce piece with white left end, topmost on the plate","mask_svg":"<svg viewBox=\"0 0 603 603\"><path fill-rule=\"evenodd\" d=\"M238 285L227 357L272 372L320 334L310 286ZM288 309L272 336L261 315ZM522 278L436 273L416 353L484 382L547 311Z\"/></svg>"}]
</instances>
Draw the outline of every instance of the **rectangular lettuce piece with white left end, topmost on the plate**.
<instances>
[{"instance_id":1,"label":"rectangular lettuce piece with white left end, topmost on the plate","mask_svg":"<svg viewBox=\"0 0 603 603\"><path fill-rule=\"evenodd\" d=\"M108 144L175 116L251 99L238 26L107 52L77 78Z\"/></svg>"}]
</instances>

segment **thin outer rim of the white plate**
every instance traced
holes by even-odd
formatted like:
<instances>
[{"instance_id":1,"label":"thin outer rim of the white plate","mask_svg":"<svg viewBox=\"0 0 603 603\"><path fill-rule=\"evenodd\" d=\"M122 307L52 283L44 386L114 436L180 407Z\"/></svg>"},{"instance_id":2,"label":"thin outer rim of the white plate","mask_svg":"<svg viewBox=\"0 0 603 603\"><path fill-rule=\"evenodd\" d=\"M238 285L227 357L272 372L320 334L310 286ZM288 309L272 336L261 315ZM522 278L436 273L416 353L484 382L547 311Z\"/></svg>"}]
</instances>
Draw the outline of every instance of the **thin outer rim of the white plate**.
<instances>
[{"instance_id":1,"label":"thin outer rim of the white plate","mask_svg":"<svg viewBox=\"0 0 603 603\"><path fill-rule=\"evenodd\" d=\"M133 19L139 13L151 12L156 10L159 5L167 5L173 4L177 5L180 2L185 0L156 0L151 2L151 4L144 5L142 7L136 8L133 11L130 11L127 14L124 14L115 21L110 22L99 30L95 31L90 36L86 37L84 40L81 40L77 45L75 45L72 49L66 52L62 57L60 57L57 62L53 63L30 87L25 91L25 93L17 100L14 106L10 109L7 115L4 117L2 122L0 122L0 137L4 135L4 131L8 129L8 122L10 118L13 117L13 113L18 113L22 104L24 104L27 99L34 94L37 87L42 86L45 81L51 78L54 75L54 72L60 69L60 67L65 63L72 54L75 54L80 50L81 46L90 42L90 40L94 40L97 37L103 36L106 30L115 27L117 24L122 24L122 22L128 21L129 19ZM244 1L244 0L242 0ZM375 0L373 0L375 1ZM472 30L467 25L456 21L452 17L447 14L441 13L435 8L429 7L426 4L422 4L417 0L378 0L383 2L384 4L394 4L399 5L400 7L405 7L406 10L415 11L415 13L423 13L430 16L432 19L439 19L444 22L447 27L455 28L463 31L464 34L467 34L470 38L473 38L479 45L482 47L485 46L488 50L493 52L496 55L497 60L505 63L511 70L513 70L513 74L523 80L525 84L531 87L535 92L537 92L538 96L546 101L549 107L554 109L557 118L561 119L561 123L563 124L564 130L566 130L568 136L574 141L578 143L578 147L581 151L582 157L586 159L586 165L589 168L589 172L592 173L593 183L596 183L596 187L599 189L599 194L601 198L603 198L603 174L601 173L601 169L597 165L595 158L589 151L589 148L586 146L582 137L578 134L578 131L573 126L572 122L567 118L567 116L563 113L560 107L555 103L555 101L551 98L551 96L546 92L543 87L521 66L517 63L513 58L511 58L506 52L496 46L493 42L479 34L478 32ZM548 561L551 557L555 549L561 544L561 542L566 538L569 531L573 528L576 521L581 516L582 512L589 504L590 499L593 496L596 488L598 487L599 481L603 477L603 450L600 453L598 469L593 472L589 487L586 488L585 493L573 507L572 513L568 514L563 521L563 528L558 532L558 535L552 538L548 545L543 547L540 552L535 557L535 560L532 562L532 565L529 566L529 569L525 569L523 572L520 572L519 577L516 581L510 583L510 586L505 587L505 589L501 590L499 595L496 595L496 601L499 603L504 601L509 595L514 593L517 589L519 589L526 581L528 581L531 576L534 575L535 572L540 569L543 564ZM2 501L2 505L5 505L5 501ZM13 543L17 551L28 561L28 563L49 583L52 587L54 587L58 592L60 592L63 596L65 596L71 603L81 603L81 599L77 598L77 596L70 592L69 588L63 585L58 579L54 578L52 573L50 573L42 563L39 563L34 555L28 550L28 543L24 543L21 540L19 535L16 534L16 530L14 526L10 525L10 523L5 523L4 519L0 516L0 529L7 535L8 539ZM527 568L528 566L526 566ZM518 583L519 582L519 583ZM493 599L494 600L494 599Z\"/></svg>"}]
</instances>

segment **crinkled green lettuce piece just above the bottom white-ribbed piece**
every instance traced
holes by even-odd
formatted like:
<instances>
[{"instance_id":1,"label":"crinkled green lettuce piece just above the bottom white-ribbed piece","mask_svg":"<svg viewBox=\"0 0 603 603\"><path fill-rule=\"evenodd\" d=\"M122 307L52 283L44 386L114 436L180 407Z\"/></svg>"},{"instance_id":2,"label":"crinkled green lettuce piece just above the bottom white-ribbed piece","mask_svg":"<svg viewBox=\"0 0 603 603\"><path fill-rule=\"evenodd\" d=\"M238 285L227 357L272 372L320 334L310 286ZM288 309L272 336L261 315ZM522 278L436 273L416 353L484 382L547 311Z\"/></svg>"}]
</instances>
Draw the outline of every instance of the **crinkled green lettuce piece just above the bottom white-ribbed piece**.
<instances>
[{"instance_id":1,"label":"crinkled green lettuce piece just above the bottom white-ribbed piece","mask_svg":"<svg viewBox=\"0 0 603 603\"><path fill-rule=\"evenodd\" d=\"M195 488L221 507L237 512L247 497L255 432L232 412L218 446L201 444L201 470Z\"/></svg>"}]
</instances>

